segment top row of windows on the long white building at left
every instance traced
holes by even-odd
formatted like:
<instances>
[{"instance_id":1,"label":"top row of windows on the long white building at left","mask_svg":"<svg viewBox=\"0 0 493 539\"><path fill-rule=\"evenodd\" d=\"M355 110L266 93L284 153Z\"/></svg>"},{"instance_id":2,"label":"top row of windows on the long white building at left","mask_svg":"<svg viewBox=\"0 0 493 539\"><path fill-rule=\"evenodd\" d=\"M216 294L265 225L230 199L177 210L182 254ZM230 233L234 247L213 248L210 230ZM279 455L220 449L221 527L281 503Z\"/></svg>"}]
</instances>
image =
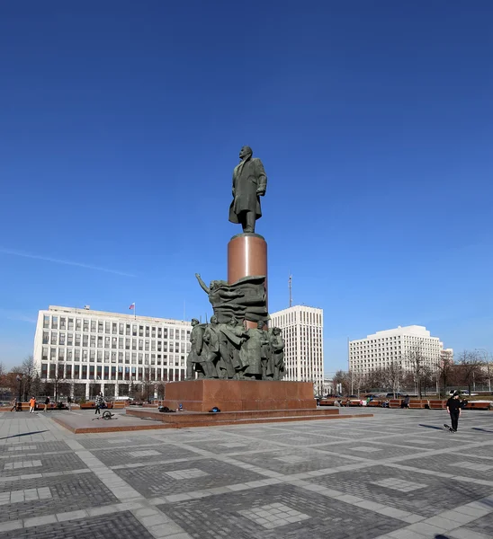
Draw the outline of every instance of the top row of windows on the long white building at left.
<instances>
[{"instance_id":1,"label":"top row of windows on the long white building at left","mask_svg":"<svg viewBox=\"0 0 493 539\"><path fill-rule=\"evenodd\" d=\"M130 335L133 337L153 337L157 339L185 340L190 330L184 328L167 328L138 323L103 322L88 318L72 318L43 315L43 329L60 331L83 331L85 333L109 333L112 335Z\"/></svg>"}]
</instances>

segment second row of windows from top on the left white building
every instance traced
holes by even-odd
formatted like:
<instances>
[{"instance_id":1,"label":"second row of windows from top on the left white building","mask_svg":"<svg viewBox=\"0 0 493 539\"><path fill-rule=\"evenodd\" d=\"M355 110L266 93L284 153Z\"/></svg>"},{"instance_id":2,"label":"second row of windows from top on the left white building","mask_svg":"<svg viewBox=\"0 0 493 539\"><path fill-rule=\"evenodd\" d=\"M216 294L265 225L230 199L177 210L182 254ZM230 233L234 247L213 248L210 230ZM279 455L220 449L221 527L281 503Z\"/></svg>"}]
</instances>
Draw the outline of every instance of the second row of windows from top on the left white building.
<instances>
[{"instance_id":1,"label":"second row of windows from top on the left white building","mask_svg":"<svg viewBox=\"0 0 493 539\"><path fill-rule=\"evenodd\" d=\"M190 342L182 340L144 340L130 337L111 337L103 335L85 335L81 333L58 333L43 331L43 344L60 346L82 346L83 348L105 348L125 350L145 350L151 352L180 352L190 351ZM169 349L168 349L169 348Z\"/></svg>"}]
</instances>

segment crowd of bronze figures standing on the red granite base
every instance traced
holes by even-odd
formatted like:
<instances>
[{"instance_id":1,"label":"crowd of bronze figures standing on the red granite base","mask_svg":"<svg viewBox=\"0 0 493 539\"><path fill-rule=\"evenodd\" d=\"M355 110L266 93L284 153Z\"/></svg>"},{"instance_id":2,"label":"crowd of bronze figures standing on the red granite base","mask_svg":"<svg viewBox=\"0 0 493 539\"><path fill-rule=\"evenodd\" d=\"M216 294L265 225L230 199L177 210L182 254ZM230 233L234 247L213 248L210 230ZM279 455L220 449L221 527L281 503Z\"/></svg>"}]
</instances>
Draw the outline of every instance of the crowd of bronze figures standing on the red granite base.
<instances>
[{"instance_id":1,"label":"crowd of bronze figures standing on the red granite base","mask_svg":"<svg viewBox=\"0 0 493 539\"><path fill-rule=\"evenodd\" d=\"M219 323L192 321L192 348L187 360L187 378L232 380L282 380L284 376L284 340L279 328L264 330L259 321L254 329L245 329L236 317Z\"/></svg>"}]
</instances>

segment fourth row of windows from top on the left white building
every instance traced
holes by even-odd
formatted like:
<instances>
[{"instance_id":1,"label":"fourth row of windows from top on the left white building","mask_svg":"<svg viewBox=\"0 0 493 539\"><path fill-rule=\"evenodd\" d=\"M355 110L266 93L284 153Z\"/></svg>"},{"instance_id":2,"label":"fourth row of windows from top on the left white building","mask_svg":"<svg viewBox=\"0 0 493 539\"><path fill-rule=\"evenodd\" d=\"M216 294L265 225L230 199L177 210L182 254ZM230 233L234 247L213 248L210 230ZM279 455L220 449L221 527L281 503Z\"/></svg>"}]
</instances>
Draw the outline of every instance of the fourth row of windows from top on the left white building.
<instances>
[{"instance_id":1,"label":"fourth row of windows from top on the left white building","mask_svg":"<svg viewBox=\"0 0 493 539\"><path fill-rule=\"evenodd\" d=\"M133 382L177 382L184 380L184 368L107 367L95 365L53 365L41 363L42 379L114 380Z\"/></svg>"}]
</instances>

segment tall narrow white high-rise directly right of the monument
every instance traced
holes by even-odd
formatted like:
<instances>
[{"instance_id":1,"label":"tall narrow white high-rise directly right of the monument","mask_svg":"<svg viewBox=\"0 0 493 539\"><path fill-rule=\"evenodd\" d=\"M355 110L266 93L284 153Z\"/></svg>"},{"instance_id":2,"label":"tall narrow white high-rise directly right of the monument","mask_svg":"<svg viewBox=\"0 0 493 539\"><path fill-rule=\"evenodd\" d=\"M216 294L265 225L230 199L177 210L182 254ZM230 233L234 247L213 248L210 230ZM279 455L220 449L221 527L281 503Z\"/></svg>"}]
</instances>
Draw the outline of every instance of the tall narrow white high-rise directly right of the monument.
<instances>
[{"instance_id":1,"label":"tall narrow white high-rise directly right of the monument","mask_svg":"<svg viewBox=\"0 0 493 539\"><path fill-rule=\"evenodd\" d=\"M324 382L323 309L295 305L271 314L269 326L282 330L284 380L313 382L315 391L321 393Z\"/></svg>"}]
</instances>

